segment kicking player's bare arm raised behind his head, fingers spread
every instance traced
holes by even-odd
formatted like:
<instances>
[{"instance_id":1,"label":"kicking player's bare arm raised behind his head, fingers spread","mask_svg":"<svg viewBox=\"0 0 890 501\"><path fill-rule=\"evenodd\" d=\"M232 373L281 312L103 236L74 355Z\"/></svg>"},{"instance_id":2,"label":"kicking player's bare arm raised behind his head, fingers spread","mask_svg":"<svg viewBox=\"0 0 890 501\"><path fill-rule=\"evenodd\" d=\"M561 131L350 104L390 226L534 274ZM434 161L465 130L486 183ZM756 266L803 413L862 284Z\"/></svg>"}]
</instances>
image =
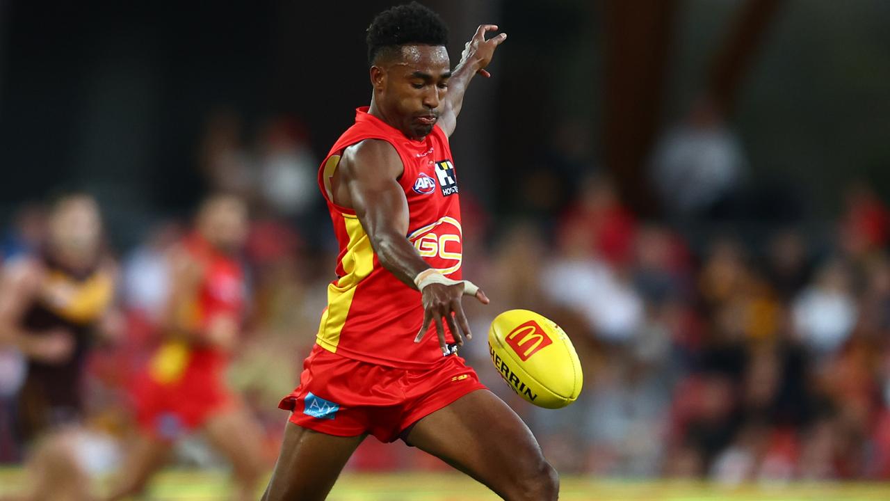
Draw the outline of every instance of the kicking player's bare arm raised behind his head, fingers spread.
<instances>
[{"instance_id":1,"label":"kicking player's bare arm raised behind his head, fingers spread","mask_svg":"<svg viewBox=\"0 0 890 501\"><path fill-rule=\"evenodd\" d=\"M460 62L457 68L451 73L448 81L448 92L442 99L442 111L439 118L439 127L445 134L451 136L457 127L457 115L464 105L464 94L466 87L469 86L470 80L478 73L482 77L489 78L491 74L485 70L494 56L495 49L498 45L506 40L506 33L501 33L495 37L485 39L486 33L497 31L498 26L494 24L483 24L476 29L473 38L464 45L464 52L461 53Z\"/></svg>"}]
</instances>

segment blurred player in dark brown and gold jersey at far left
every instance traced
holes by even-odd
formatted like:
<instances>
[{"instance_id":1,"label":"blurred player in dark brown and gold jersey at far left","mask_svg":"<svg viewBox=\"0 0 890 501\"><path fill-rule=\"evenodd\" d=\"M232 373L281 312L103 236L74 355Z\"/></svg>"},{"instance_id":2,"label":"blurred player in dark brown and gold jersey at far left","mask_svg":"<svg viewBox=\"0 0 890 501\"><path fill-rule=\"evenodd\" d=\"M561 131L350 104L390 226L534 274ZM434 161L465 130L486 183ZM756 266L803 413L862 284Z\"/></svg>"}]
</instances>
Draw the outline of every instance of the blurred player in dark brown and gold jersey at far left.
<instances>
[{"instance_id":1,"label":"blurred player in dark brown and gold jersey at far left","mask_svg":"<svg viewBox=\"0 0 890 501\"><path fill-rule=\"evenodd\" d=\"M91 499L82 447L84 364L105 322L116 267L102 252L99 206L69 193L53 203L46 242L36 256L12 259L0 283L0 345L28 360L18 402L19 431L34 446L32 489L25 499Z\"/></svg>"}]
</instances>

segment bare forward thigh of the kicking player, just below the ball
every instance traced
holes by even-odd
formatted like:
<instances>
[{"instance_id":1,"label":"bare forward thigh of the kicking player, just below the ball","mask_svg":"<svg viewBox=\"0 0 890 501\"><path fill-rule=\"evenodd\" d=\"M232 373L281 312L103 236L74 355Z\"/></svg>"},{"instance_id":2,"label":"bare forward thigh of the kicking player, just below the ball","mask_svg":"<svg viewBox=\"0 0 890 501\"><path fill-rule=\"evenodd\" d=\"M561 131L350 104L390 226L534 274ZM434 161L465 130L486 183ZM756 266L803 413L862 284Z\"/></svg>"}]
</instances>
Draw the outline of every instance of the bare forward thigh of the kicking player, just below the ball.
<instances>
[{"instance_id":1,"label":"bare forward thigh of the kicking player, just below the ball","mask_svg":"<svg viewBox=\"0 0 890 501\"><path fill-rule=\"evenodd\" d=\"M427 415L409 444L441 458L508 501L559 497L559 477L538 441L513 409L489 390L477 390Z\"/></svg>"}]
</instances>

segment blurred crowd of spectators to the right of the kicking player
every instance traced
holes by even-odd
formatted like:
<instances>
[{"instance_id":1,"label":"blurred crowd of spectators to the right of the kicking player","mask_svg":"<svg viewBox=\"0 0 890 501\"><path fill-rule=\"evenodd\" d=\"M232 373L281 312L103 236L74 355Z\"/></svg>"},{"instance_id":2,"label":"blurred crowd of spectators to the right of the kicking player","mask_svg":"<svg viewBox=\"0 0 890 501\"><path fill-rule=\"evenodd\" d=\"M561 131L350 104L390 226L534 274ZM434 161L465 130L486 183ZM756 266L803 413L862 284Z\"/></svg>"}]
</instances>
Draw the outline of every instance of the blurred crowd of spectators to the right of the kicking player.
<instances>
[{"instance_id":1,"label":"blurred crowd of spectators to the right of the kicking player","mask_svg":"<svg viewBox=\"0 0 890 501\"><path fill-rule=\"evenodd\" d=\"M886 479L888 223L854 185L827 242L777 226L762 242L713 234L693 248L591 178L552 239L517 227L480 279L495 310L562 324L585 368L573 407L517 408L561 471Z\"/></svg>"}]
</instances>

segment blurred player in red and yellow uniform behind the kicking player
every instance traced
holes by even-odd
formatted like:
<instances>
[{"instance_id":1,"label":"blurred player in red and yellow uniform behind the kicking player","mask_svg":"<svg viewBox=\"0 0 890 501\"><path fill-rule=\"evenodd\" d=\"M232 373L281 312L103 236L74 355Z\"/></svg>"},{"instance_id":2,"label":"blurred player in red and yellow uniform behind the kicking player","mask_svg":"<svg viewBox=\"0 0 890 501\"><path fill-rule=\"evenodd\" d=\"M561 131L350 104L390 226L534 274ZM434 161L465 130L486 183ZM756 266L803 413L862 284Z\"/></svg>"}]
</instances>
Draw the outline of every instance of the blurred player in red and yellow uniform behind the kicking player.
<instances>
[{"instance_id":1,"label":"blurred player in red and yellow uniform behind the kicking player","mask_svg":"<svg viewBox=\"0 0 890 501\"><path fill-rule=\"evenodd\" d=\"M142 436L109 499L142 492L176 439L195 429L231 461L234 498L255 499L262 431L224 382L246 306L237 254L247 234L247 209L238 198L214 196L198 210L196 226L172 257L167 339L134 392Z\"/></svg>"}]
</instances>

